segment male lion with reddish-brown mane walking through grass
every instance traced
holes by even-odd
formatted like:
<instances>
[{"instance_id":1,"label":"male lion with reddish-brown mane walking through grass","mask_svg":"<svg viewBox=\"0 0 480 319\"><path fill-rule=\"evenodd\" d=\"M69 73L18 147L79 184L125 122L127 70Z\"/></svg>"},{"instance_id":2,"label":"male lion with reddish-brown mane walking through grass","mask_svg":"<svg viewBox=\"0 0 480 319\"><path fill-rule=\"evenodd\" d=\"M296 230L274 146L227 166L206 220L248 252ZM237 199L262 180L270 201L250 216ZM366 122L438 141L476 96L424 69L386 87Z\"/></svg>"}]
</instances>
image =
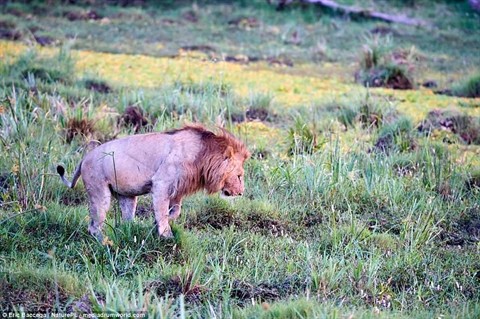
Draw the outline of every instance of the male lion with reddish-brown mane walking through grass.
<instances>
[{"instance_id":1,"label":"male lion with reddish-brown mane walking through grass","mask_svg":"<svg viewBox=\"0 0 480 319\"><path fill-rule=\"evenodd\" d=\"M112 194L119 200L122 218L131 220L136 196L152 193L158 234L172 237L169 219L180 215L185 195L201 189L242 195L243 164L249 156L245 145L226 130L215 134L191 125L100 145L85 155L71 183L63 166L57 166L57 172L70 188L82 175L90 202L88 230L99 240Z\"/></svg>"}]
</instances>

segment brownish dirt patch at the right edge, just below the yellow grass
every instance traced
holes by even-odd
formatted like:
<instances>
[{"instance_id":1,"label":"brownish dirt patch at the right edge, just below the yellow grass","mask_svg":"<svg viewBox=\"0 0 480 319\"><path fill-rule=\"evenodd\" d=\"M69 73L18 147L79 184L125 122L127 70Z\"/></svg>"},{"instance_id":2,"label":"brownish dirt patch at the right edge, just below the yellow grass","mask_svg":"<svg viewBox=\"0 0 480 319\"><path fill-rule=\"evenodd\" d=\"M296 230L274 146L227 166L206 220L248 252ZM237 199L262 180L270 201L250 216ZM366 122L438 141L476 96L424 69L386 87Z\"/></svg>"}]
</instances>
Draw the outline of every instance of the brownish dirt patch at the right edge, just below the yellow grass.
<instances>
[{"instance_id":1,"label":"brownish dirt patch at the right edge, just below the yellow grass","mask_svg":"<svg viewBox=\"0 0 480 319\"><path fill-rule=\"evenodd\" d=\"M429 135L435 130L451 132L466 144L480 145L480 118L457 111L430 111L418 130Z\"/></svg>"}]
</instances>

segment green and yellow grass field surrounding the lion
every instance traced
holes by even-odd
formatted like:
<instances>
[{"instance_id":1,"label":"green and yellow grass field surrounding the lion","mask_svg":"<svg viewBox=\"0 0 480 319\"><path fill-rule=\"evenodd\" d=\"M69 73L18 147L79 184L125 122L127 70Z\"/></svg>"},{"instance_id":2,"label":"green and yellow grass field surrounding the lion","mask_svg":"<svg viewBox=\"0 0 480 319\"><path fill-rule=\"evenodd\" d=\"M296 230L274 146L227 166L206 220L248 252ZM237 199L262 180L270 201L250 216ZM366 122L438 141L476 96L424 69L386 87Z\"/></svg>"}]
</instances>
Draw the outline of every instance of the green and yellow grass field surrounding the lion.
<instances>
[{"instance_id":1,"label":"green and yellow grass field surrounding the lion","mask_svg":"<svg viewBox=\"0 0 480 319\"><path fill-rule=\"evenodd\" d=\"M0 5L1 312L479 318L480 17L339 2L428 25L259 0ZM191 122L248 145L244 196L187 198L174 239L150 197L132 223L114 203L94 239L55 167Z\"/></svg>"}]
</instances>

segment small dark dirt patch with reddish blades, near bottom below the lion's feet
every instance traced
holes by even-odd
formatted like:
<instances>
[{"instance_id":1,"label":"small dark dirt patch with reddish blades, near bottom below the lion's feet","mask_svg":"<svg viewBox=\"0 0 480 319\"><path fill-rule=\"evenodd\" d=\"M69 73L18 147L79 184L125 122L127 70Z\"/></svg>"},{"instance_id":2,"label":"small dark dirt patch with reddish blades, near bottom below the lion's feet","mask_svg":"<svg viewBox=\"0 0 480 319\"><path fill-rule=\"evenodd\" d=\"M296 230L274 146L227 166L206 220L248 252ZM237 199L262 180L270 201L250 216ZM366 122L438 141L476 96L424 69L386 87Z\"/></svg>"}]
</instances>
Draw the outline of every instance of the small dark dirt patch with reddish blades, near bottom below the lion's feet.
<instances>
[{"instance_id":1,"label":"small dark dirt patch with reddish blades, near bottom below the lion's feet","mask_svg":"<svg viewBox=\"0 0 480 319\"><path fill-rule=\"evenodd\" d=\"M196 283L192 283L193 274L189 273L184 280L180 276L173 276L169 279L154 280L148 283L145 291L152 291L157 296L162 297L169 295L177 298L180 295L185 296L185 301L188 303L200 303L203 300L203 295L207 292L207 288Z\"/></svg>"}]
</instances>

